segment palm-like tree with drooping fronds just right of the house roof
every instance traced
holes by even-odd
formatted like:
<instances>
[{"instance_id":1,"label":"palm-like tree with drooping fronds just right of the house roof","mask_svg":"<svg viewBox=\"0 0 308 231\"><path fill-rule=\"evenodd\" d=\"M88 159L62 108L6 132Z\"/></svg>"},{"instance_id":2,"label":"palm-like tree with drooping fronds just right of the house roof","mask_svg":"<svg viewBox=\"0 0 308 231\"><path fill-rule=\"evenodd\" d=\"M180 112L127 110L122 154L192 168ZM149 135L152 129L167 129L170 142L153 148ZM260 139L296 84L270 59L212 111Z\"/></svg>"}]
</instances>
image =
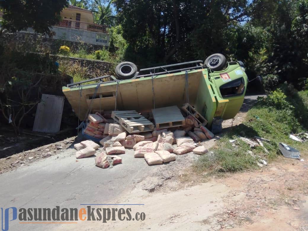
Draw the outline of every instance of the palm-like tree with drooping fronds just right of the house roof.
<instances>
[{"instance_id":1,"label":"palm-like tree with drooping fronds just right of the house roof","mask_svg":"<svg viewBox=\"0 0 308 231\"><path fill-rule=\"evenodd\" d=\"M103 6L101 1L95 0L95 3L97 4L97 10L94 10L96 23L107 25L109 27L114 26L116 17L112 15L112 1L113 0L111 0L107 6Z\"/></svg>"}]
</instances>

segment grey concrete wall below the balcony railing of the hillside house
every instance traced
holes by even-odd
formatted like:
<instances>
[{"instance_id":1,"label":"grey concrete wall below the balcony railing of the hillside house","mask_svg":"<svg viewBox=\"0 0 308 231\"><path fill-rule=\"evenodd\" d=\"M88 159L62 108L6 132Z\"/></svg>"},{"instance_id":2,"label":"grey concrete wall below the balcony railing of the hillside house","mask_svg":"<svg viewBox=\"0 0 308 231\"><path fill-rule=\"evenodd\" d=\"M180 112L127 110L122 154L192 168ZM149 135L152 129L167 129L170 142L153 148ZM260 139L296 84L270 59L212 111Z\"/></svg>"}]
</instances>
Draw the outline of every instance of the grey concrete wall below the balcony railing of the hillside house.
<instances>
[{"instance_id":1,"label":"grey concrete wall below the balcony railing of the hillside house","mask_svg":"<svg viewBox=\"0 0 308 231\"><path fill-rule=\"evenodd\" d=\"M66 28L60 26L53 26L52 29L55 31L53 39L66 40L71 42L84 42L88 44L107 46L109 47L109 34L99 33L88 30L78 30L74 28ZM28 28L28 33L35 33L32 28Z\"/></svg>"}]
</instances>

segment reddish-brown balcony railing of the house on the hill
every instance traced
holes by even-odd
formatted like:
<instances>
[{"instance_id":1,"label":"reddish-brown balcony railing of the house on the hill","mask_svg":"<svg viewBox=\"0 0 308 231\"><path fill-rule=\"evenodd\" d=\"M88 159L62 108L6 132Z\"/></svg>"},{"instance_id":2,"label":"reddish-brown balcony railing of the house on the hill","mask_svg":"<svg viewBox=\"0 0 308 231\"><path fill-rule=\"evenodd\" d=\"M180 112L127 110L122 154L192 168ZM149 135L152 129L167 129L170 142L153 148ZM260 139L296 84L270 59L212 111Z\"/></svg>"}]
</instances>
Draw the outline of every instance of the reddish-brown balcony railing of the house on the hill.
<instances>
[{"instance_id":1,"label":"reddish-brown balcony railing of the house on the hill","mask_svg":"<svg viewBox=\"0 0 308 231\"><path fill-rule=\"evenodd\" d=\"M98 25L98 24L89 23L89 22L79 22L79 21L68 20L68 19L63 19L56 26L108 33L107 26Z\"/></svg>"}]
</instances>

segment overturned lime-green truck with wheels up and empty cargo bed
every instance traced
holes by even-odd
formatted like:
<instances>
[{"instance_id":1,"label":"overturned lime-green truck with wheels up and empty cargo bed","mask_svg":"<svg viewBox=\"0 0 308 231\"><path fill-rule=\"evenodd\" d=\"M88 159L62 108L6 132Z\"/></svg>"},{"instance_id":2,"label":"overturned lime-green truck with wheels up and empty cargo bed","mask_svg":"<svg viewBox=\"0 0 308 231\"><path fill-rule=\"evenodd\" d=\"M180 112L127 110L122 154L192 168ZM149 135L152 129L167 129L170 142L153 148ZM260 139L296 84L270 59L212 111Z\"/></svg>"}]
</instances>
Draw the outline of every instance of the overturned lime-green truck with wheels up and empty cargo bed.
<instances>
[{"instance_id":1,"label":"overturned lime-green truck with wheels up and empty cargo bed","mask_svg":"<svg viewBox=\"0 0 308 231\"><path fill-rule=\"evenodd\" d=\"M221 54L137 71L135 64L120 63L116 76L102 76L68 84L62 91L76 116L84 120L91 110L136 110L192 105L208 121L232 119L240 110L248 78L244 64L226 62ZM111 81L103 82L103 79ZM98 83L91 83L98 81Z\"/></svg>"}]
</instances>

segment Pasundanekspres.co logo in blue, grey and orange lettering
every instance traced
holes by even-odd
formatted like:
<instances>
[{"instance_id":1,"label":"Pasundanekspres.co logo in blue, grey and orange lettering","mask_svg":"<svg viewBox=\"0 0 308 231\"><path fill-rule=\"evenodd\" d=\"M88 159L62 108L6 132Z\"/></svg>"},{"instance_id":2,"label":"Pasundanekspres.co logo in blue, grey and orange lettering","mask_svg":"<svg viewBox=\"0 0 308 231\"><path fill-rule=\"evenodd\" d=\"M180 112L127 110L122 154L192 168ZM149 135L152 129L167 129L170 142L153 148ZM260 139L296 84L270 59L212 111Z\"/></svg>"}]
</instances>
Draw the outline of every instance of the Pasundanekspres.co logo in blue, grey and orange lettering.
<instances>
[{"instance_id":1,"label":"Pasundanekspres.co logo in blue, grey and orange lettering","mask_svg":"<svg viewBox=\"0 0 308 231\"><path fill-rule=\"evenodd\" d=\"M132 212L131 208L92 208L95 205L144 205L144 204L80 204L87 208L1 208L2 231L9 230L10 221L19 220L19 224L77 224L78 221L144 221L145 213Z\"/></svg>"}]
</instances>

